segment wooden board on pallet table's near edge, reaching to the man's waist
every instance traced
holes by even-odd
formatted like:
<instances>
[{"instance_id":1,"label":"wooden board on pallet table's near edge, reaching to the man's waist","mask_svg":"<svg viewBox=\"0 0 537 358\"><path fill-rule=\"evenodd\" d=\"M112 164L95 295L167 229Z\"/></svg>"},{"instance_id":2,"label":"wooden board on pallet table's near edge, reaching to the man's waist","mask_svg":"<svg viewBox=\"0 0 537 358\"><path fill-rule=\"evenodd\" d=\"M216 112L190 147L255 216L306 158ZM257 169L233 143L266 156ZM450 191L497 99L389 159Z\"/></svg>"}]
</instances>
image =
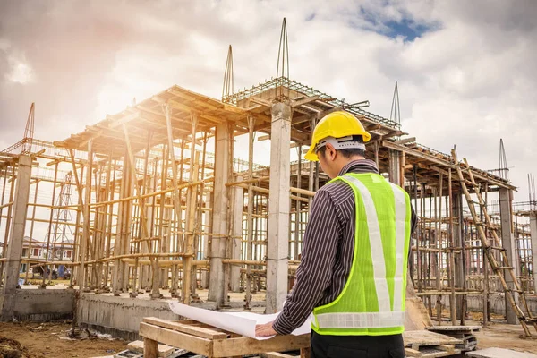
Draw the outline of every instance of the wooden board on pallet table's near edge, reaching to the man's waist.
<instances>
[{"instance_id":1,"label":"wooden board on pallet table's near edge, reaching to the man's waist","mask_svg":"<svg viewBox=\"0 0 537 358\"><path fill-rule=\"evenodd\" d=\"M229 357L230 355L258 354L272 351L291 351L310 346L310 335L276 336L258 341L254 338L230 338L213 341L213 357Z\"/></svg>"}]
</instances>

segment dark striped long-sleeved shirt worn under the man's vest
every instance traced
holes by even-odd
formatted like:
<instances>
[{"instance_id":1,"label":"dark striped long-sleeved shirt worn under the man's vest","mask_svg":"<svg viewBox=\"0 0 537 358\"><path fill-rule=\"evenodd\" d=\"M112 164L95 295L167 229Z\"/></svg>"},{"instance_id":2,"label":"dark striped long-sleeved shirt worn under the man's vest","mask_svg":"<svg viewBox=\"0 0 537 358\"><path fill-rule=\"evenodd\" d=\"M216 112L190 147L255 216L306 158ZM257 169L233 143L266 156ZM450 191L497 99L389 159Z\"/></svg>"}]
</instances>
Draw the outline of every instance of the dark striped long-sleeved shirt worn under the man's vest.
<instances>
[{"instance_id":1,"label":"dark striped long-sleeved shirt worn under the man's vest","mask_svg":"<svg viewBox=\"0 0 537 358\"><path fill-rule=\"evenodd\" d=\"M345 173L379 173L379 169L374 161L361 159L345 165L339 175ZM333 302L341 293L353 264L355 222L354 192L347 183L328 183L315 193L296 281L273 323L277 333L293 332L315 307ZM413 214L412 230L414 226Z\"/></svg>"}]
</instances>

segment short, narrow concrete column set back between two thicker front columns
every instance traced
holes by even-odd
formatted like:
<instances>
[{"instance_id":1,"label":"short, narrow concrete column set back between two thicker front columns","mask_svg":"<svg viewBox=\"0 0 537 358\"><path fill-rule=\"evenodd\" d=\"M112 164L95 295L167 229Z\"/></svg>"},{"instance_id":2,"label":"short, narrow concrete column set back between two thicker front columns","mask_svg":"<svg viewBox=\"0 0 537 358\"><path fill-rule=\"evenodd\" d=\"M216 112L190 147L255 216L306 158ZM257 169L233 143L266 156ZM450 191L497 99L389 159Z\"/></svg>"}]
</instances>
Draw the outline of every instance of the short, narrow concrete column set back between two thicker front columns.
<instances>
[{"instance_id":1,"label":"short, narrow concrete column set back between two thicker front columns","mask_svg":"<svg viewBox=\"0 0 537 358\"><path fill-rule=\"evenodd\" d=\"M242 176L237 177L237 181L243 180ZM230 241L231 258L241 259L241 248L243 246L243 204L244 204L244 189L240 186L234 186L234 203L233 203L233 236ZM248 203L250 205L250 203ZM229 283L231 292L239 292L241 286L241 267L232 266L230 270Z\"/></svg>"}]
</instances>

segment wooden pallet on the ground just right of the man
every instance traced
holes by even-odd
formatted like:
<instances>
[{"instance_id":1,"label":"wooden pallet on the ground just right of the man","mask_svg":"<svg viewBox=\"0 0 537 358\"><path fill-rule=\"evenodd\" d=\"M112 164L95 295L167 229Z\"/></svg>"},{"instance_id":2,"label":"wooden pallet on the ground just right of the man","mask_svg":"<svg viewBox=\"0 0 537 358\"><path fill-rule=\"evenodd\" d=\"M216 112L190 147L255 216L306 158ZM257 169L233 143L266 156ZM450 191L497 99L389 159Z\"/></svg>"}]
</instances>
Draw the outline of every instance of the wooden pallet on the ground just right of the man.
<instances>
[{"instance_id":1,"label":"wooden pallet on the ground just right of the man","mask_svg":"<svg viewBox=\"0 0 537 358\"><path fill-rule=\"evenodd\" d=\"M411 330L403 333L405 354L407 357L447 357L460 354L456 345L462 345L463 340L441 335L427 330Z\"/></svg>"}]
</instances>

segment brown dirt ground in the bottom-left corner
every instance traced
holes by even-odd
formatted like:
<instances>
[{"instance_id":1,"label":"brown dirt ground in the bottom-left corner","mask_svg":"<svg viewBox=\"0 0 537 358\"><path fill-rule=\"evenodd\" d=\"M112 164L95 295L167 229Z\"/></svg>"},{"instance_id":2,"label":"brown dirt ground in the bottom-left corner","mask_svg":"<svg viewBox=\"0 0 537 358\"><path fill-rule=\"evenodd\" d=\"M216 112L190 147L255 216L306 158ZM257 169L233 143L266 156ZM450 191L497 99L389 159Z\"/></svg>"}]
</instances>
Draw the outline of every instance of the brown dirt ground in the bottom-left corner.
<instances>
[{"instance_id":1,"label":"brown dirt ground in the bottom-left corner","mask_svg":"<svg viewBox=\"0 0 537 358\"><path fill-rule=\"evenodd\" d=\"M127 349L127 342L122 340L61 339L66 337L65 332L70 328L70 324L62 322L0 323L0 358L88 358L112 355ZM20 343L21 347L10 340Z\"/></svg>"}]
</instances>

